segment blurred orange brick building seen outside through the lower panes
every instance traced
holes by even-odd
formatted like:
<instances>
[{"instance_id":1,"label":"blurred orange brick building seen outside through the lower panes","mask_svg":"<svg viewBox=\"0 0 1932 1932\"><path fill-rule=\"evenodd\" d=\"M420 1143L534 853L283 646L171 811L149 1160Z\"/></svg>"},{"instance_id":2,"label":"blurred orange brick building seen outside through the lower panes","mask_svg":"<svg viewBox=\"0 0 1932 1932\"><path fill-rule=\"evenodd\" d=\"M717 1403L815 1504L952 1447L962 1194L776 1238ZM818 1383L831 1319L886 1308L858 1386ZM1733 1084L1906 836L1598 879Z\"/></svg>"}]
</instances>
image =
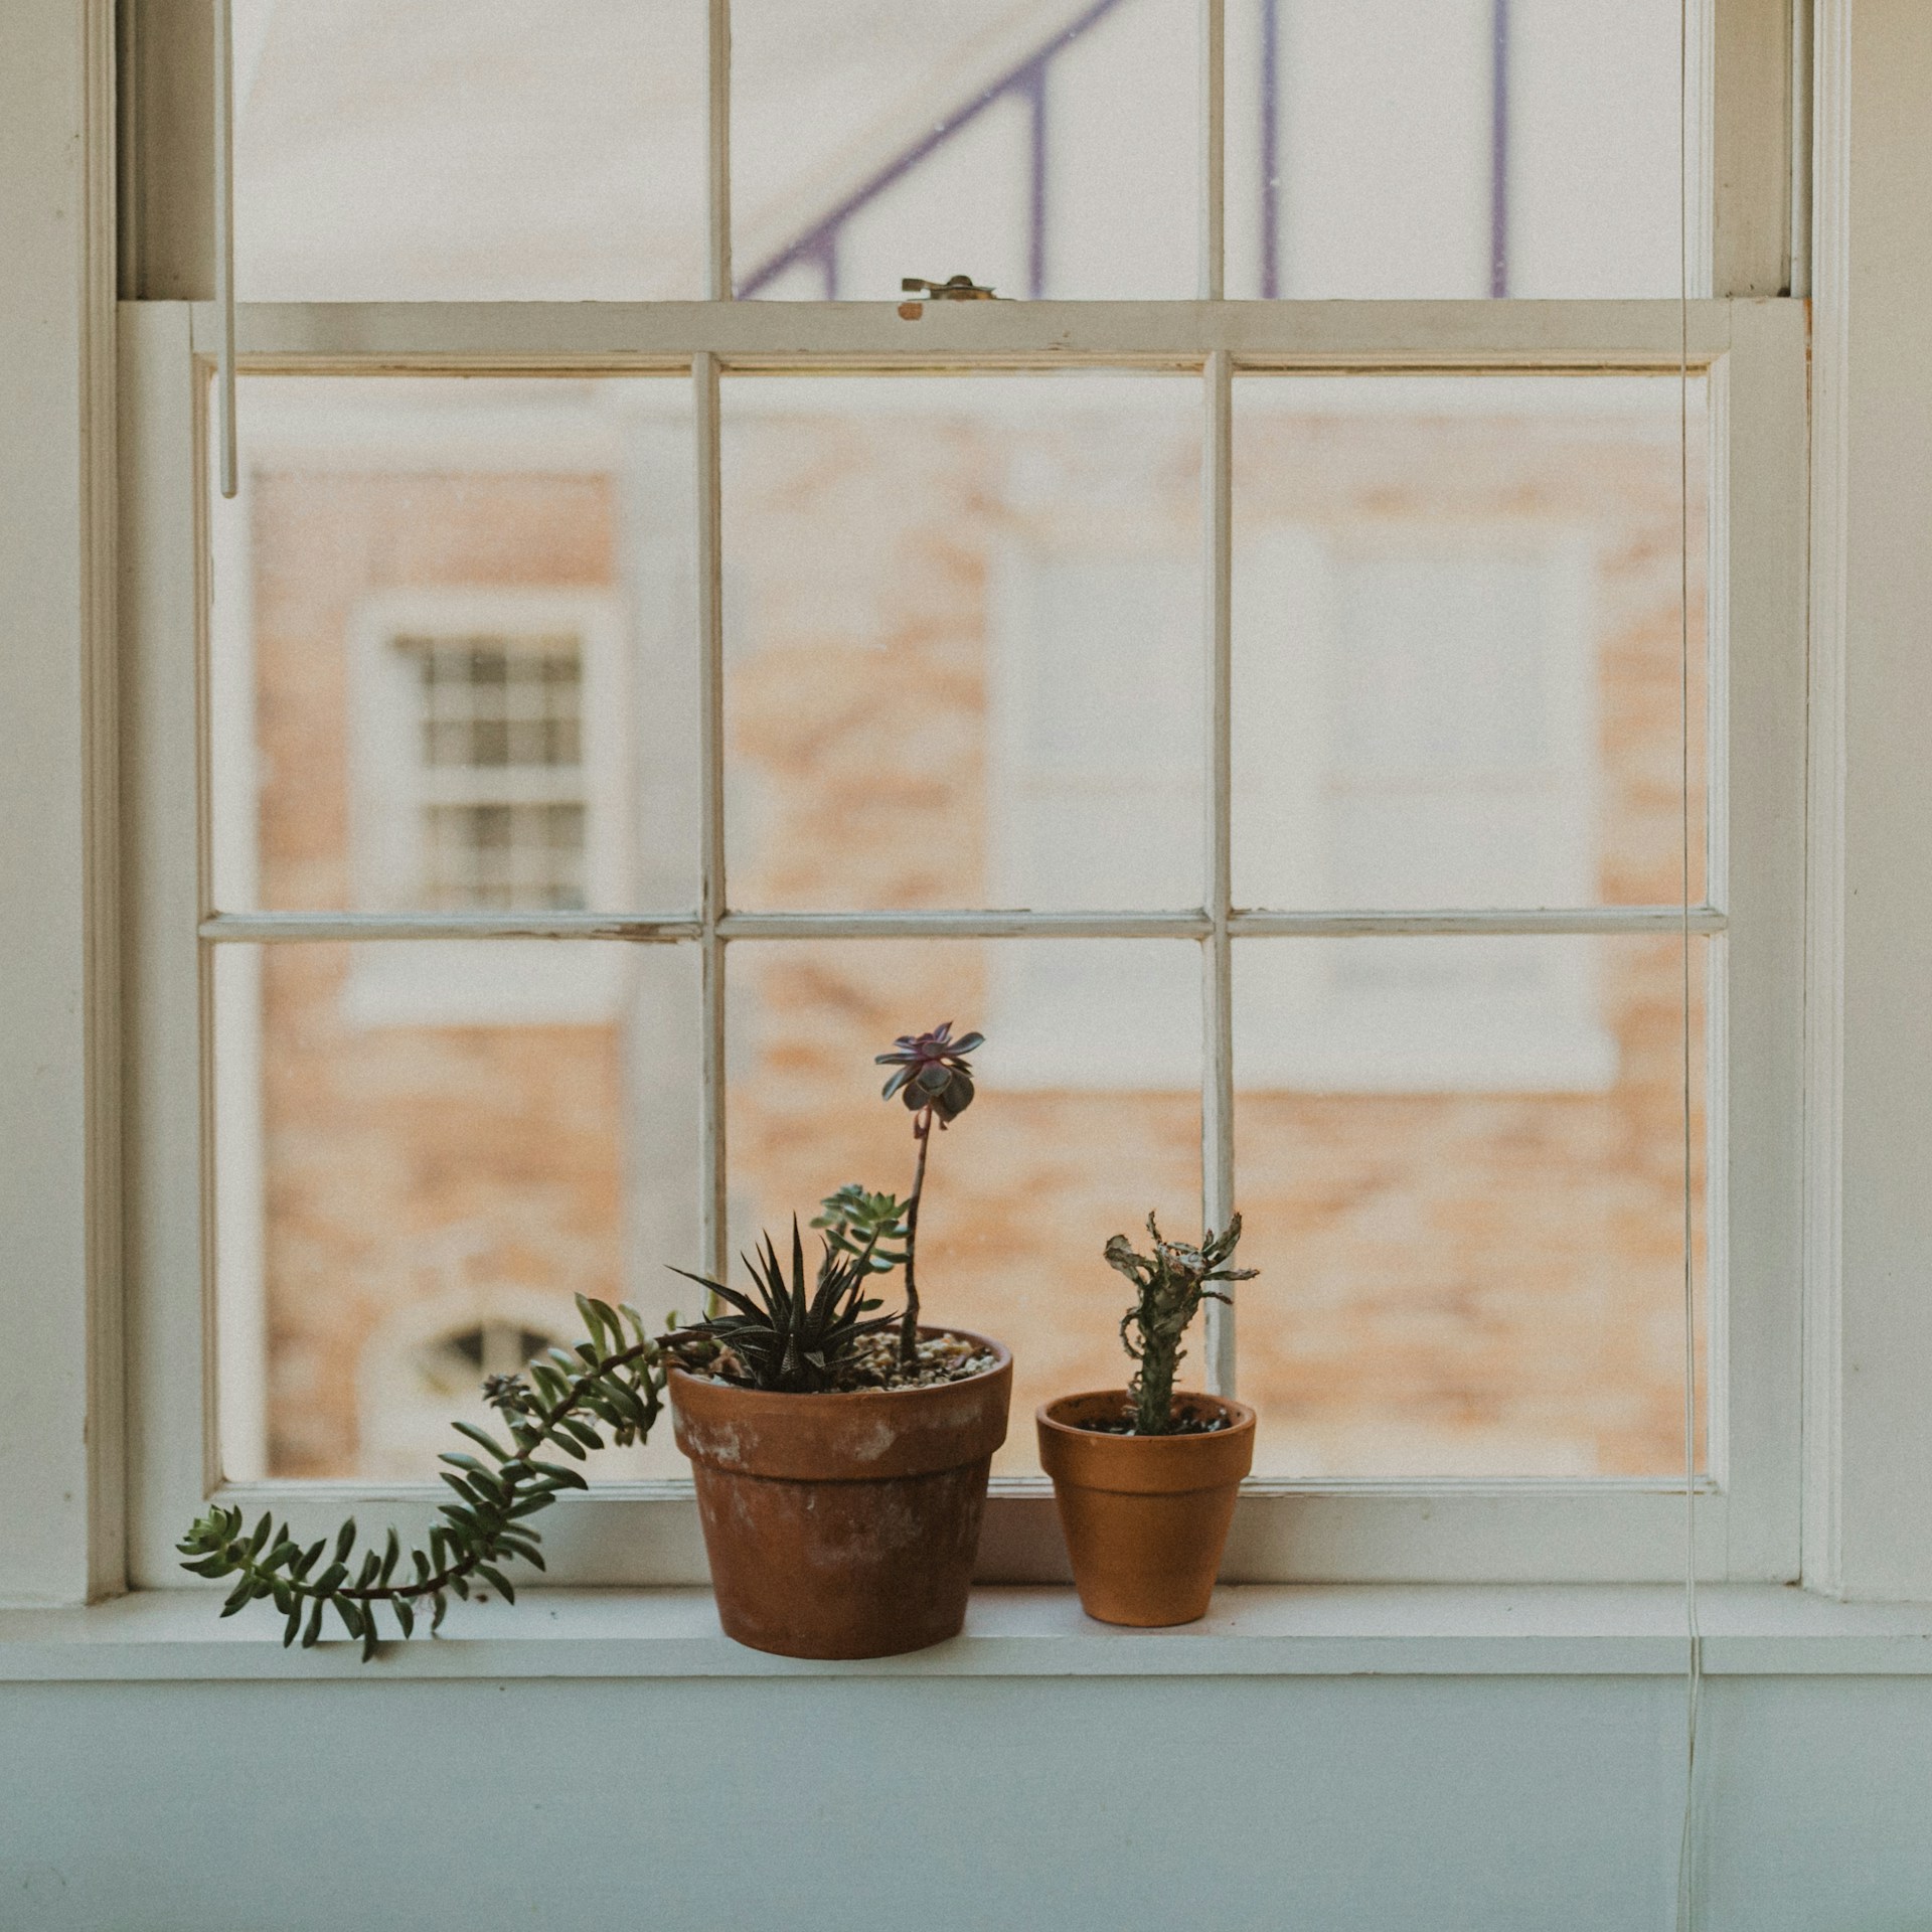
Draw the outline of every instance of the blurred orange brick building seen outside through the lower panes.
<instances>
[{"instance_id":1,"label":"blurred orange brick building seen outside through the lower panes","mask_svg":"<svg viewBox=\"0 0 1932 1932\"><path fill-rule=\"evenodd\" d=\"M1047 386L1026 392L1026 381ZM1150 653L1198 661L1188 634L1198 607L1194 431L1165 396L1136 410L1109 388L1095 404L1065 379L997 379L989 394L997 406L981 408L966 384L945 384L867 415L837 383L788 394L759 381L728 410L736 904L1186 902L1182 862L1169 866L1159 848L1180 827L1177 852L1192 862L1198 850L1200 796L1175 779L1200 759L1190 686L1157 694L1171 699L1159 742L1126 699ZM311 400L288 404L284 421L299 423ZM1312 895L1304 904L1364 904L1379 883L1395 904L1457 902L1457 887L1476 904L1673 902L1683 808L1669 412L1619 392L1598 413L1567 396L1538 413L1542 398L1520 384L1499 402L1522 413L1490 413L1455 383L1434 417L1364 410L1352 396L1320 413L1323 398L1302 388L1285 400L1262 398L1267 406L1244 415L1238 433L1236 699L1250 703L1236 726L1236 891L1242 840L1260 846L1269 833L1267 767L1306 744L1291 717L1269 709L1279 690L1262 676L1264 659L1294 649L1273 628L1279 599L1300 597L1283 624L1325 624L1366 676L1378 611L1393 609L1389 624L1408 620L1405 572L1420 558L1437 572L1428 580L1437 605L1420 638L1391 634L1399 678L1434 692L1441 667L1430 653L1447 651L1480 707L1540 711L1549 744L1515 773L1520 796L1507 771L1478 761L1470 773L1437 771L1434 790L1406 804L1397 786L1387 819L1372 775L1341 769L1347 730L1337 726L1325 781L1306 806L1306 837L1327 848L1327 871L1291 875L1285 893ZM325 408L340 413L344 404L330 396ZM398 408L384 404L392 421ZM367 906L383 889L367 858L383 831L367 823L369 798L357 802L355 788L388 796L371 775L371 730L354 723L371 703L369 653L412 667L413 682L377 678L377 701L386 692L433 713L446 694L425 649L469 653L466 665L485 676L504 670L493 651L587 649L582 612L609 599L622 614L638 597L634 539L628 583L624 560L624 526L639 514L626 508L636 477L458 475L435 468L433 454L392 473L303 469L272 454L270 417L265 406L267 448L247 506L259 893L270 906ZM668 435L678 439L676 425ZM284 440L292 437L286 429ZM668 522L674 512L667 506ZM1283 531L1304 553L1327 554L1323 597L1264 568ZM1455 535L1453 551L1443 531ZM1493 603L1507 578L1476 580L1492 599L1484 626L1528 626L1520 663L1492 667L1515 688L1486 684L1482 663L1459 657L1468 636L1457 628L1457 585L1439 576L1451 554L1459 570L1476 556L1492 572L1495 558L1515 568L1553 556L1549 568L1569 582L1575 609L1548 591L1511 620ZM1051 597L1041 603L1037 583L1053 568L1072 570L1074 589L1099 612L1092 647L1055 616ZM1109 568L1122 580L1111 601ZM1032 603L1014 591L1016 572L1032 574ZM672 616L665 636L676 651L680 591L653 582L668 599L661 614ZM1337 582L1352 582L1358 601L1368 585L1366 616L1356 611L1352 628L1349 611L1337 611ZM1140 616L1124 618L1126 609ZM379 643L365 636L371 611L386 614ZM1565 624L1580 626L1580 703L1561 690ZM545 626L562 636L547 638ZM1028 651L1049 665L1036 665L1032 682L1014 668ZM1094 663L1109 651L1119 701L1094 690ZM595 838L582 825L560 875L543 864L516 873L479 833L468 873L413 875L429 900L624 904L651 877L661 840L659 893L645 887L639 902L676 902L680 811L670 802L653 817L636 771L678 765L684 697L674 670L653 672L649 649L636 684L626 701L634 742L614 759L630 777L605 796L591 786L587 804L572 808L626 819L618 842L634 852L630 879L585 887L572 864L582 867ZM582 709L578 694L591 686L578 663L564 709ZM475 696L468 692L460 723L468 732L479 730ZM504 709L500 692L491 703L493 717ZM539 713L551 705L554 726L554 684L535 703ZM1321 703L1337 713L1333 680ZM1577 769L1561 753L1569 709L1588 724ZM437 728L431 713L423 730ZM1066 744L1095 752L1101 844L1117 856L1092 864L1111 877L1074 862L1088 765L1063 753L1053 771L1065 796L1034 800L1003 765L1014 746L1003 752L995 738L1020 730L1024 752L1041 717ZM585 724L578 717L572 728ZM572 782L585 746L566 748L578 755L556 767ZM1115 767L1124 767L1124 792L1109 788ZM1173 781L1165 804L1163 781ZM1565 786L1580 788L1580 817ZM668 798L663 771L659 792ZM1337 833L1364 794L1366 848ZM1476 817L1463 794L1478 798ZM491 810L508 811L419 800L384 810L464 810L481 815L471 829ZM1565 811L1569 844L1532 850ZM1445 817L1461 827L1445 860L1461 877L1439 875L1428 854L1408 879L1378 860L1376 838L1412 844L1418 827ZM1134 848L1124 864L1122 844ZM1492 850L1488 877L1472 844ZM1262 887L1269 864L1267 850L1248 862ZM1350 873L1376 864L1379 881ZM1588 873L1580 891L1540 891L1548 879L1538 867L1578 864ZM1341 993L1310 995L1306 976L1244 964L1250 949L1333 962L1364 945L1370 968L1401 947L1420 949L1422 960L1420 978L1370 1005L1366 1022L1349 1016L1347 976ZM1264 1269L1242 1296L1242 1389L1264 1408L1264 1459L1275 1472L1646 1472L1677 1453L1679 945L1553 945L1269 939L1236 949L1236 978L1252 980L1236 1001L1238 1196L1248 1260ZM1493 985L1478 976L1470 989L1468 949L1492 962ZM471 964L458 952L487 956ZM562 1335L574 1293L630 1294L653 1314L678 1300L661 1264L696 1262L697 1022L680 949L282 945L265 949L261 974L263 1279L278 1472L421 1466L425 1428L469 1387L485 1352L495 1362L539 1335ZM981 1101L935 1150L927 1302L1020 1347L1022 1399L1119 1379L1121 1293L1099 1246L1138 1229L1150 1208L1177 1231L1198 1221L1196 978L1186 941L736 945L734 1233L748 1240L753 1227L782 1227L794 1208L810 1215L850 1179L904 1188L906 1119L879 1105L871 1055L895 1032L937 1018L985 1026ZM1372 995L1374 970L1366 978ZM1364 1024L1374 1036L1350 1045L1350 1028ZM1014 1464L1024 1455L1020 1439Z\"/></svg>"}]
</instances>

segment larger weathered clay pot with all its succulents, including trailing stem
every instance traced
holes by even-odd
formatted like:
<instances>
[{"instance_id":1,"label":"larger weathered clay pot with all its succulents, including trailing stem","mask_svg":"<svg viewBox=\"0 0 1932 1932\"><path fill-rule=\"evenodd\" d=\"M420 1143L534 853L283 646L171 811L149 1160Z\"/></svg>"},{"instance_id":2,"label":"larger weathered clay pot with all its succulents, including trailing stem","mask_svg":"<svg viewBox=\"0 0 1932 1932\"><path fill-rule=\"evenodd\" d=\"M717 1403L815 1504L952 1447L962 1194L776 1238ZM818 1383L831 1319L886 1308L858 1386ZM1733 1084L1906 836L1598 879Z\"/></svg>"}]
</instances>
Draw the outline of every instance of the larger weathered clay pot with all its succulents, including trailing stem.
<instances>
[{"instance_id":1,"label":"larger weathered clay pot with all its succulents, including trailing stem","mask_svg":"<svg viewBox=\"0 0 1932 1932\"><path fill-rule=\"evenodd\" d=\"M578 1296L587 1339L491 1376L495 1432L452 1424L481 1455L440 1459L452 1495L423 1548L404 1549L390 1530L359 1551L354 1519L303 1548L286 1520L263 1515L249 1532L240 1509L216 1503L180 1542L184 1567L236 1578L224 1617L272 1602L284 1644L309 1646L334 1613L371 1658L383 1615L412 1636L419 1613L435 1631L452 1596L514 1600L504 1571L543 1569L531 1519L587 1488L572 1463L643 1439L668 1383L732 1636L786 1656L866 1658L956 1634L987 1470L1007 1439L1012 1356L980 1335L922 1327L914 1269L931 1134L972 1105L966 1055L978 1045L980 1034L954 1039L947 1024L879 1055L895 1068L885 1097L912 1113L912 1194L829 1196L810 1285L794 1221L790 1267L763 1240L753 1294L705 1281L723 1312L670 1335L651 1335L628 1304ZM904 1314L875 1314L866 1287L895 1267Z\"/></svg>"}]
</instances>

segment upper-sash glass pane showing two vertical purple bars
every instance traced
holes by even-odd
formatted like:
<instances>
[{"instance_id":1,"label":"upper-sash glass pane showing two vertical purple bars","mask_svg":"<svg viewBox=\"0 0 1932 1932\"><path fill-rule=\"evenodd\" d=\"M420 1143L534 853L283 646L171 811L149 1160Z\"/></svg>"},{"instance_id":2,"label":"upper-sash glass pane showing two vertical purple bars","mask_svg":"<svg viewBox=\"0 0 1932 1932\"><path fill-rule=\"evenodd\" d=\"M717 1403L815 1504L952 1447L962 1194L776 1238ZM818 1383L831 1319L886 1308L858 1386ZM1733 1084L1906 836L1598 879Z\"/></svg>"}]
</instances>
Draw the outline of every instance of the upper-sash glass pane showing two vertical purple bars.
<instances>
[{"instance_id":1,"label":"upper-sash glass pane showing two vertical purple bars","mask_svg":"<svg viewBox=\"0 0 1932 1932\"><path fill-rule=\"evenodd\" d=\"M1679 292L1677 0L1229 0L1227 44L1231 296Z\"/></svg>"}]
</instances>

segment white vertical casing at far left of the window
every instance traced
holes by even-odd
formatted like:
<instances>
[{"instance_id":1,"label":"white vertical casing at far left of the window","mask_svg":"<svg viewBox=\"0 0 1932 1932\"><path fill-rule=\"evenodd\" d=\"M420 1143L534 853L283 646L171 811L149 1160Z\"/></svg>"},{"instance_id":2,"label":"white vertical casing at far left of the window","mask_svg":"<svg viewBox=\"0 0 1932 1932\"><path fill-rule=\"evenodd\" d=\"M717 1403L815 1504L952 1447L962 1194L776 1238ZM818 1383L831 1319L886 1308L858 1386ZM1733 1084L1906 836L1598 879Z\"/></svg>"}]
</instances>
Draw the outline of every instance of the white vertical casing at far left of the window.
<instances>
[{"instance_id":1,"label":"white vertical casing at far left of the window","mask_svg":"<svg viewBox=\"0 0 1932 1932\"><path fill-rule=\"evenodd\" d=\"M0 1594L122 1588L114 10L0 10Z\"/></svg>"}]
</instances>

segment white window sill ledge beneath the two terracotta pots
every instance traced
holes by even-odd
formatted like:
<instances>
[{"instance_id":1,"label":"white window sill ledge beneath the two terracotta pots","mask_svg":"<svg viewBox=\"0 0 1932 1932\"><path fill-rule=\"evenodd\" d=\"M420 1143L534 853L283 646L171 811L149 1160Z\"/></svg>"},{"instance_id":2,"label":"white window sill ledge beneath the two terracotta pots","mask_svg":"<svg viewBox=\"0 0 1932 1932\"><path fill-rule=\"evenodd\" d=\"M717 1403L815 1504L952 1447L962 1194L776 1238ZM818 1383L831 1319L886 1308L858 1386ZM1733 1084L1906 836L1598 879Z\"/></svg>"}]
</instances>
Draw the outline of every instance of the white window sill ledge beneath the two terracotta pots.
<instances>
[{"instance_id":1,"label":"white window sill ledge beneath the two terracotta pots","mask_svg":"<svg viewBox=\"0 0 1932 1932\"><path fill-rule=\"evenodd\" d=\"M1779 1584L1698 1594L1718 1677L1932 1675L1932 1605L1837 1604ZM730 1642L707 1590L529 1590L452 1605L444 1634L284 1650L255 1605L147 1590L0 1613L0 1681L402 1677L1675 1677L1683 1594L1665 1584L1242 1584L1173 1631L1094 1623L1065 1588L976 1590L966 1633L902 1658L813 1663Z\"/></svg>"}]
</instances>

